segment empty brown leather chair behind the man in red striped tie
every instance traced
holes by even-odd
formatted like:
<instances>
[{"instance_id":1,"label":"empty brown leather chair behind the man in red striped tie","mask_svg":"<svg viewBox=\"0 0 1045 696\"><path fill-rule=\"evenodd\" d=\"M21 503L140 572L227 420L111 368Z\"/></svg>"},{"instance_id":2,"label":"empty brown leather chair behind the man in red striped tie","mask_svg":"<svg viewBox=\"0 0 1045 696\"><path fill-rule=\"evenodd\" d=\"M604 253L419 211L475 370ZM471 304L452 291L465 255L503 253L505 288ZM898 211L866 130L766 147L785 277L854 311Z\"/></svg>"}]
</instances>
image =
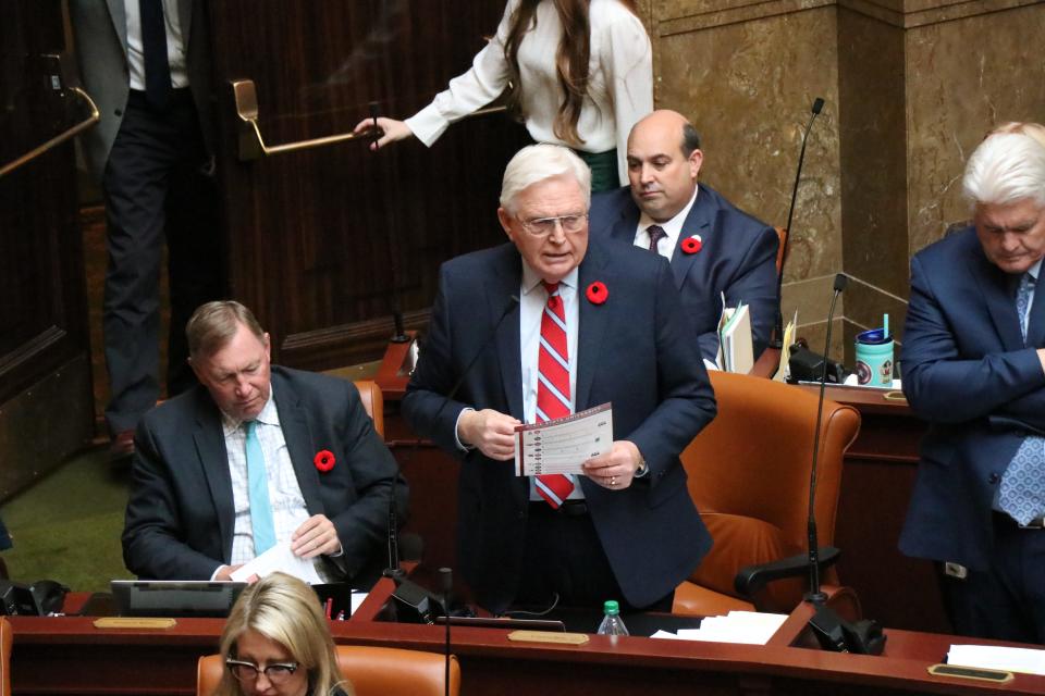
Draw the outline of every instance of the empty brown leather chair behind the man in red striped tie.
<instances>
[{"instance_id":1,"label":"empty brown leather chair behind the man in red striped tie","mask_svg":"<svg viewBox=\"0 0 1045 696\"><path fill-rule=\"evenodd\" d=\"M681 459L689 493L714 546L676 589L673 611L788 612L801 601L804 573L771 583L754 597L739 592L736 580L745 567L806 552L816 395L725 372L713 372L711 383L718 414ZM821 548L834 542L843 455L859 430L856 409L824 401L815 509ZM824 573L824 580L837 583L833 570Z\"/></svg>"}]
</instances>

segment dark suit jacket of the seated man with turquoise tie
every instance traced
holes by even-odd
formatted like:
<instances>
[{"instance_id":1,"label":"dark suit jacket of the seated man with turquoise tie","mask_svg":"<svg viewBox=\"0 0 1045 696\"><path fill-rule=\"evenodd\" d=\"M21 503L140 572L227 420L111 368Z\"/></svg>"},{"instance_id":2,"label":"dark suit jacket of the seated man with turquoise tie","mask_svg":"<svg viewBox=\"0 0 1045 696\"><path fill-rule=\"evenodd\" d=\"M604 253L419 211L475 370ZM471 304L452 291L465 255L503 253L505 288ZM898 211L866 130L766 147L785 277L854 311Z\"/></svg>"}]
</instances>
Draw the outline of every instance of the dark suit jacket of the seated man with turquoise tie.
<instances>
[{"instance_id":1,"label":"dark suit jacket of the seated man with turquoise tie","mask_svg":"<svg viewBox=\"0 0 1045 696\"><path fill-rule=\"evenodd\" d=\"M389 502L398 468L351 382L272 368L280 426L309 515L334 523L347 577L385 558ZM232 556L232 477L221 412L202 386L149 411L135 434L123 558L140 577L208 580ZM322 450L334 468L316 469ZM399 507L406 484L396 489Z\"/></svg>"}]
</instances>

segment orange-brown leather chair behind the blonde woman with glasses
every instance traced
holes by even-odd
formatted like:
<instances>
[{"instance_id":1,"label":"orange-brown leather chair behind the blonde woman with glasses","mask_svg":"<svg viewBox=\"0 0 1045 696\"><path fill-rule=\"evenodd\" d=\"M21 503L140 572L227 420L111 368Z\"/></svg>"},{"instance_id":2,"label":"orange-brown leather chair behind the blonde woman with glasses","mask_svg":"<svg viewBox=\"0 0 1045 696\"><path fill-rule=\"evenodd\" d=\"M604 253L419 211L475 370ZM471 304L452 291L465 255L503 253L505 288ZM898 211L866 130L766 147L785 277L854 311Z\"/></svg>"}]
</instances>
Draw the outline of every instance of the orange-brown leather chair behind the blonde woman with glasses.
<instances>
[{"instance_id":1,"label":"orange-brown leather chair behind the blonde woman with glasses","mask_svg":"<svg viewBox=\"0 0 1045 696\"><path fill-rule=\"evenodd\" d=\"M337 666L356 696L443 696L444 657L438 652L339 645ZM225 669L220 655L199 658L196 696L210 696ZM460 691L460 667L450 657L450 694Z\"/></svg>"}]
</instances>

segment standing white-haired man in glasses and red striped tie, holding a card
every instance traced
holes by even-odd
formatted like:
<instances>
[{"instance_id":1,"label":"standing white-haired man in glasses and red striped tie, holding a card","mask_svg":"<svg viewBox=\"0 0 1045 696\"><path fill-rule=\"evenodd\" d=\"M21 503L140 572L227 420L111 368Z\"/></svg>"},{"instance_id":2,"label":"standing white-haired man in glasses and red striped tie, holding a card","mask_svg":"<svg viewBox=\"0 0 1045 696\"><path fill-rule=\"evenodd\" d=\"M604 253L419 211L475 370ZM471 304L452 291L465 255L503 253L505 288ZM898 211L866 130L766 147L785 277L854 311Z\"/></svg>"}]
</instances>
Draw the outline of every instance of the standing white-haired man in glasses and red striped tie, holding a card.
<instances>
[{"instance_id":1,"label":"standing white-haired man in glasses and red striped tie, holding a card","mask_svg":"<svg viewBox=\"0 0 1045 696\"><path fill-rule=\"evenodd\" d=\"M711 547L678 455L715 415L664 258L588 245L591 174L566 148L508 163L514 244L445 263L403 412L463 459L458 558L479 604L669 611ZM583 475L519 477L513 433L613 403ZM581 462L578 462L581 463Z\"/></svg>"}]
</instances>

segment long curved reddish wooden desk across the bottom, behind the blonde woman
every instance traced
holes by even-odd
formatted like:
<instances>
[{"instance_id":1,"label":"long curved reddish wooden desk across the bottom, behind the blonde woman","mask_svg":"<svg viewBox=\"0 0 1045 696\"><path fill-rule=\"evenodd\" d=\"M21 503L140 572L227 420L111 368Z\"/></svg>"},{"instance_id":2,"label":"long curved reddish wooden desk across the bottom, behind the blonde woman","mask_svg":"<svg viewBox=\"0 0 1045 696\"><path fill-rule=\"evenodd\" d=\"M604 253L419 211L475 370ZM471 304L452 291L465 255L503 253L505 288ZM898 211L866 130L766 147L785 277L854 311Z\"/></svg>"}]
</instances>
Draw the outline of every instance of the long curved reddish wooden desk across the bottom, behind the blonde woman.
<instances>
[{"instance_id":1,"label":"long curved reddish wooden desk across the bottom, behind the blonde woman","mask_svg":"<svg viewBox=\"0 0 1045 696\"><path fill-rule=\"evenodd\" d=\"M356 617L333 622L339 644L443 649L441 626L373 621L388 599L381 581ZM453 631L462 694L565 696L639 693L759 695L1045 694L1045 678L1017 675L1008 685L934 678L950 636L889 631L882 657L794 647L811 608L801 606L766 646L590 636L582 646L515 643L499 629ZM195 693L196 660L217 651L222 621L182 619L168 631L98 630L84 617L14 617L15 694Z\"/></svg>"}]
</instances>

